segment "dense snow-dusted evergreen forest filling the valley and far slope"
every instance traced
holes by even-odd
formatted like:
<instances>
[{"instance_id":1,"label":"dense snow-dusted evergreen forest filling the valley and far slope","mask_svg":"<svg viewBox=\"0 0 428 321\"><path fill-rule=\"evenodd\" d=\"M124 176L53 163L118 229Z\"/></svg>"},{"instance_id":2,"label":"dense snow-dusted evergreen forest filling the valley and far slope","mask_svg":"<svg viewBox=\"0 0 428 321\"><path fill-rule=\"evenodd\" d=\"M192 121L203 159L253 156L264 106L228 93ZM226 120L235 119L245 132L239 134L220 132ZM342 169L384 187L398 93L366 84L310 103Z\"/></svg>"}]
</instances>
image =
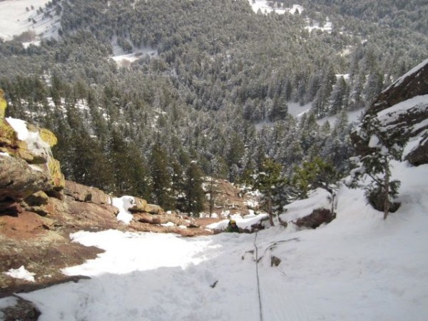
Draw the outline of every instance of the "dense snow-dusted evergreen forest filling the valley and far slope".
<instances>
[{"instance_id":1,"label":"dense snow-dusted evergreen forest filling the valley and far slope","mask_svg":"<svg viewBox=\"0 0 428 321\"><path fill-rule=\"evenodd\" d=\"M350 169L347 112L427 58L428 4L301 5L263 14L248 0L50 1L37 10L61 16L56 39L0 39L7 116L54 131L66 178L166 209L198 215L205 175L283 203L305 197ZM331 31L307 28L326 21ZM138 59L116 63L119 47Z\"/></svg>"}]
</instances>

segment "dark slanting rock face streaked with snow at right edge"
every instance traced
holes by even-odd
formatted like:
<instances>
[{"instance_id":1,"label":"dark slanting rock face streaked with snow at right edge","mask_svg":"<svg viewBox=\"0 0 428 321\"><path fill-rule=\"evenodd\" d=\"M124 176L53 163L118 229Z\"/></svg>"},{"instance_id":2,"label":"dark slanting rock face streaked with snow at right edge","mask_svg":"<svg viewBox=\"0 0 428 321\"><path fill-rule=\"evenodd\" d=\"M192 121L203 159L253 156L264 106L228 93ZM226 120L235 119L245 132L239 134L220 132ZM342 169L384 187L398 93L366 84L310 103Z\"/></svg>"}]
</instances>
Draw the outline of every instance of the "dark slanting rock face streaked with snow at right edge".
<instances>
[{"instance_id":1,"label":"dark slanting rock face streaked with snow at right edge","mask_svg":"<svg viewBox=\"0 0 428 321\"><path fill-rule=\"evenodd\" d=\"M362 126L371 116L379 121L380 131L412 141L411 151L404 159L412 165L428 163L428 59L392 83L379 94L367 109ZM358 130L351 135L357 153L370 153L370 137L362 137Z\"/></svg>"}]
</instances>

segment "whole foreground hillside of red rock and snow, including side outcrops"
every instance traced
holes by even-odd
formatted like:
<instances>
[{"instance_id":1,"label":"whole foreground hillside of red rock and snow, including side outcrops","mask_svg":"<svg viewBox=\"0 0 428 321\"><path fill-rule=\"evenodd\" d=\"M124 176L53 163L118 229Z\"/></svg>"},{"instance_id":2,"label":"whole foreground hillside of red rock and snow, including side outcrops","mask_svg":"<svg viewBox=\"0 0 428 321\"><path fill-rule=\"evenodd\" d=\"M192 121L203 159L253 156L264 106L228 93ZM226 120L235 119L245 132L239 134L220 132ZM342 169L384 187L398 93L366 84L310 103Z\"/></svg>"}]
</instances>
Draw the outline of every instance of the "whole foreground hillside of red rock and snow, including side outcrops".
<instances>
[{"instance_id":1,"label":"whole foreground hillside of red rock and snow, including side outcrops","mask_svg":"<svg viewBox=\"0 0 428 321\"><path fill-rule=\"evenodd\" d=\"M278 321L397 316L420 320L427 314L428 303L424 287L428 261L421 255L428 244L424 233L428 223L424 197L428 192L427 66L428 60L383 91L367 109L354 138L364 163L377 148L384 155L394 153L384 151L379 142L394 146L394 141L407 136L402 155L407 161L389 159L389 181L400 182L394 213L384 216L382 208L375 210L376 204L367 202L367 191L371 193L367 177L354 190L348 188L350 175L340 183L335 198L318 188L308 198L282 207L275 227L254 225L266 215L243 216L238 210L232 214L238 226L257 227L255 233L207 235L211 233L198 228L191 218L162 213L158 205L138 198L121 198L123 206L113 200L112 206L100 190L73 182L64 182L63 188L57 180L43 185L46 193L52 194L53 187L56 193L35 206L29 201L34 201L36 193L21 201L31 190L14 191L19 185L14 180L0 190L1 255L3 264L10 267L1 275L6 296L0 300L1 313L6 320L24 315L49 321L64 316L71 320L260 320L260 315ZM376 131L369 137L367 124L374 118ZM8 123L14 121L6 118L0 128L10 138L11 132L5 131ZM394 136L397 132L401 136ZM387 141L382 141L386 139L382 133L389 134ZM4 141L2 148L19 154L19 147L5 146ZM2 153L0 161L19 162L9 153ZM32 154L39 155L41 166L33 165L33 174L41 175L44 163L36 150L25 154L26 162L31 163ZM6 175L0 177L7 177L6 166L1 166L1 173ZM123 220L119 216L125 209L131 220L121 225L118 220ZM327 212L330 218L320 220ZM187 228L178 226L185 222ZM227 222L220 220L208 228L222 230ZM205 236L190 239L177 233ZM86 258L93 259L79 265ZM69 280L73 282L54 285ZM31 290L36 291L25 293ZM12 292L19 293L8 297ZM152 299L146 300L147 295Z\"/></svg>"}]
</instances>

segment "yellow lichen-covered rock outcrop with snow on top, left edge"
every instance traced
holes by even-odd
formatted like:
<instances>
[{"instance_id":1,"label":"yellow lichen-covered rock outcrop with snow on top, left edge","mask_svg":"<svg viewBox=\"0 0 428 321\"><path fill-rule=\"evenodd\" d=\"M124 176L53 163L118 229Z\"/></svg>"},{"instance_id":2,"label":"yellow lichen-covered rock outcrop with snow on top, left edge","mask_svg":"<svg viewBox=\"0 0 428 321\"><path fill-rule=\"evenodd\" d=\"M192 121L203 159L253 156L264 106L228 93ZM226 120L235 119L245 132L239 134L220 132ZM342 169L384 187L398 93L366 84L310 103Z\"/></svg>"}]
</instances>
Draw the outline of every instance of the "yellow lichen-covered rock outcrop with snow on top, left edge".
<instances>
[{"instance_id":1,"label":"yellow lichen-covered rock outcrop with snow on top, left edge","mask_svg":"<svg viewBox=\"0 0 428 321\"><path fill-rule=\"evenodd\" d=\"M51 192L57 194L65 180L58 161L50 153L50 147L56 144L54 133L47 129L26 124L24 121L5 119L6 101L0 92L0 209L16 210L14 203L31 203L31 194ZM26 137L20 139L12 124L22 126ZM22 135L22 133L21 133ZM28 138L28 139L27 139ZM55 193L54 193L55 191ZM36 196L40 198L40 195ZM36 213L46 215L39 205L31 208Z\"/></svg>"}]
</instances>

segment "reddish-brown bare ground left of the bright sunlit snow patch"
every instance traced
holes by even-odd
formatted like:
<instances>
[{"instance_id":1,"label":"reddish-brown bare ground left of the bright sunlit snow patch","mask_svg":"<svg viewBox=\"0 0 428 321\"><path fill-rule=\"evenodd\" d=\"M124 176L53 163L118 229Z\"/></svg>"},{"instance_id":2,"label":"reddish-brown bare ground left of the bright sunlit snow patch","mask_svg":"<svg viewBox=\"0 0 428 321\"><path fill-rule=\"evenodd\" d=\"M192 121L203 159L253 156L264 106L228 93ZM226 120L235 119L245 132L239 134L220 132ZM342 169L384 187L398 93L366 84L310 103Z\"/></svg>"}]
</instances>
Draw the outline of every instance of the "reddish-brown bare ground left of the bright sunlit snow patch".
<instances>
[{"instance_id":1,"label":"reddish-brown bare ground left of the bright sunlit snow patch","mask_svg":"<svg viewBox=\"0 0 428 321\"><path fill-rule=\"evenodd\" d=\"M66 230L60 233L50 230L34 230L33 233L26 231L21 233L21 238L16 237L17 235L8 238L6 235L10 232L5 231L4 225L0 227L0 297L76 281L81 277L63 275L61 269L82 264L103 252L99 248L71 243ZM10 277L4 273L22 265L36 274L35 282Z\"/></svg>"}]
</instances>

